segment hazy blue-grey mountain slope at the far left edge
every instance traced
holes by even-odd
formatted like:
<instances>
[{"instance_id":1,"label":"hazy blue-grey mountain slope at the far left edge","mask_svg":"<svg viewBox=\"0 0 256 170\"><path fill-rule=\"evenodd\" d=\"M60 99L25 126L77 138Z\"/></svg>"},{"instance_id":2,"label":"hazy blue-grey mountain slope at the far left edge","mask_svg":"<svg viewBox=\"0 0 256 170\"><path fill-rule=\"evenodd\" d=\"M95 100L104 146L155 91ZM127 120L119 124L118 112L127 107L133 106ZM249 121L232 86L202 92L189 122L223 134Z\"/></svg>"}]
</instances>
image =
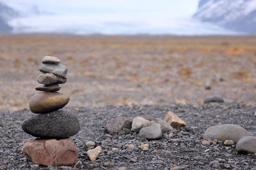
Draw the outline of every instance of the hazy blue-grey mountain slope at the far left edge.
<instances>
[{"instance_id":1,"label":"hazy blue-grey mountain slope at the far left edge","mask_svg":"<svg viewBox=\"0 0 256 170\"><path fill-rule=\"evenodd\" d=\"M7 22L17 16L18 13L16 11L0 2L0 32L12 31L12 27Z\"/></svg>"}]
</instances>

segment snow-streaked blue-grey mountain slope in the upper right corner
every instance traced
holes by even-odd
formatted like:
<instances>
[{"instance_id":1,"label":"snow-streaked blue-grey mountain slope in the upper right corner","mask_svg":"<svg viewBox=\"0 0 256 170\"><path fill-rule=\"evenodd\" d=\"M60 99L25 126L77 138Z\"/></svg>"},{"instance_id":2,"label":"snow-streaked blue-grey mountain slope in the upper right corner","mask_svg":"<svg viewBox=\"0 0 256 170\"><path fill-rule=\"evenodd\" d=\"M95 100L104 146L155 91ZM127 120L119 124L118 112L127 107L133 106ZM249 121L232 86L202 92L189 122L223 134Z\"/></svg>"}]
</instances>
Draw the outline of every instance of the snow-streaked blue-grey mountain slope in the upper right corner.
<instances>
[{"instance_id":1,"label":"snow-streaked blue-grey mountain slope in the upper right corner","mask_svg":"<svg viewBox=\"0 0 256 170\"><path fill-rule=\"evenodd\" d=\"M256 0L200 0L194 18L233 31L256 33Z\"/></svg>"}]
</instances>

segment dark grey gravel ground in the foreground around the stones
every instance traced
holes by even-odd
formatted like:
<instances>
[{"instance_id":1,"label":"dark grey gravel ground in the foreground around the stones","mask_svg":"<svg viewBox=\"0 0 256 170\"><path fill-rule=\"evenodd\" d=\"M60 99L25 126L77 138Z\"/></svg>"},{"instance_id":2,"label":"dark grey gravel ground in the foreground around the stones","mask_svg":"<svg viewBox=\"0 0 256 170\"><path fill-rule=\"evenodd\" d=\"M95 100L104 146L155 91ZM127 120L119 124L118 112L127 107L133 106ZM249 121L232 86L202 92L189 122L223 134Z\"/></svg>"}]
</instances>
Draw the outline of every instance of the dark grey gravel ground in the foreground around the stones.
<instances>
[{"instance_id":1,"label":"dark grey gravel ground in the foreground around the stones","mask_svg":"<svg viewBox=\"0 0 256 170\"><path fill-rule=\"evenodd\" d=\"M254 113L256 106L242 103L210 103L164 106L106 106L102 108L65 108L73 111L79 118L81 130L72 136L78 146L79 160L77 169L252 169L256 167L254 154L238 155L235 146L225 146L220 141L212 141L211 145L202 145L204 131L212 125L237 124L247 131L255 132ZM121 131L117 135L109 135L104 131L106 123L114 117L133 117L150 115L164 118L168 111L173 111L187 122L187 127L176 129L172 138L164 134L156 141L138 138L136 133ZM0 113L0 169L68 169L68 167L36 167L28 162L20 149L24 140L33 138L22 131L20 125L35 114L29 110ZM87 141L94 141L102 147L102 152L95 162L91 162L86 151ZM149 150L143 152L139 146L148 143ZM136 145L128 149L125 145ZM118 148L113 150L112 148ZM108 162L109 161L109 162ZM71 166L70 166L71 167ZM74 167L74 166L73 166Z\"/></svg>"}]
</instances>

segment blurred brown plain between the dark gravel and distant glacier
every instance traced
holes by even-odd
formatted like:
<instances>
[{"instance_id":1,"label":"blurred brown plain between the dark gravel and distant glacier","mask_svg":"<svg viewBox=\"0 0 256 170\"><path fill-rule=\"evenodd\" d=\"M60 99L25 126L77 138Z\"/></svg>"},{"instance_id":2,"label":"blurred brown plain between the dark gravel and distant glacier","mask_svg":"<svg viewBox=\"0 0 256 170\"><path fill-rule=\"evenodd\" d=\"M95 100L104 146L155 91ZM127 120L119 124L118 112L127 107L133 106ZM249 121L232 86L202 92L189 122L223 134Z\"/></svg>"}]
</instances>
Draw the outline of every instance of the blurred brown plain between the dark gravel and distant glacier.
<instances>
[{"instance_id":1,"label":"blurred brown plain between the dark gravel and distant glacier","mask_svg":"<svg viewBox=\"0 0 256 170\"><path fill-rule=\"evenodd\" d=\"M28 108L45 55L68 67L68 106L255 104L255 36L0 35L0 110ZM211 85L211 90L205 90Z\"/></svg>"}]
</instances>

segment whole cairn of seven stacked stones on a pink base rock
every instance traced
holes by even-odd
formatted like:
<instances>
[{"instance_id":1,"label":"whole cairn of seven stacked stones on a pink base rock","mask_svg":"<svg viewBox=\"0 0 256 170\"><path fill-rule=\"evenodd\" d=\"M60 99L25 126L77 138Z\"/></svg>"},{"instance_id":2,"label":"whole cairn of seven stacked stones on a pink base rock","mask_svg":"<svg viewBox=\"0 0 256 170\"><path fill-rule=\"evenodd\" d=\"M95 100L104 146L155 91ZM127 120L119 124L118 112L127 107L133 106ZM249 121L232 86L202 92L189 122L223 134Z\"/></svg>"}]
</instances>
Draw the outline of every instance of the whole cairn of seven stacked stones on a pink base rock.
<instances>
[{"instance_id":1,"label":"whole cairn of seven stacked stones on a pink base rock","mask_svg":"<svg viewBox=\"0 0 256 170\"><path fill-rule=\"evenodd\" d=\"M79 121L74 113L60 110L69 98L57 92L58 84L67 81L67 67L57 57L45 56L39 70L44 73L36 78L40 85L35 89L40 92L29 101L30 110L37 115L22 123L23 131L36 139L27 140L22 152L28 160L43 166L76 164L79 150L69 137L79 131Z\"/></svg>"}]
</instances>

